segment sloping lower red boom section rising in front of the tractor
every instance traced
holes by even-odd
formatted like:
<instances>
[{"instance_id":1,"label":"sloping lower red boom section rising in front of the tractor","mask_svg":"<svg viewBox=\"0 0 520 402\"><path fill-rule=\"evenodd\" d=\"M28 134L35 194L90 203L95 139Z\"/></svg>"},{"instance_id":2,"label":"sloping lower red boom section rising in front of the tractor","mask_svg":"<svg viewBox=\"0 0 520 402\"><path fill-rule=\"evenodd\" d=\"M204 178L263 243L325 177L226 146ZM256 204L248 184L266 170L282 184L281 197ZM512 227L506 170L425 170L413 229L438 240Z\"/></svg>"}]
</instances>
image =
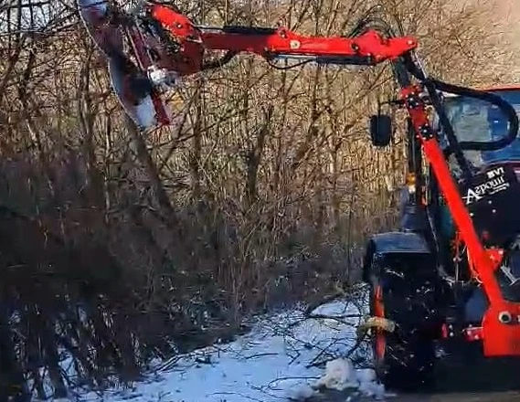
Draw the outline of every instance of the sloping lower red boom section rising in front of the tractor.
<instances>
[{"instance_id":1,"label":"sloping lower red boom section rising in front of the tractor","mask_svg":"<svg viewBox=\"0 0 520 402\"><path fill-rule=\"evenodd\" d=\"M483 248L439 143L433 135L425 104L419 98L419 88L415 86L404 88L401 90L401 97L407 106L415 132L430 161L440 190L450 208L455 225L461 232L474 269L483 282L483 289L490 303L482 323L484 354L487 356L520 355L520 303L504 301L494 276L494 271L500 267L504 251ZM500 317L504 313L511 317L510 323L501 322Z\"/></svg>"}]
</instances>

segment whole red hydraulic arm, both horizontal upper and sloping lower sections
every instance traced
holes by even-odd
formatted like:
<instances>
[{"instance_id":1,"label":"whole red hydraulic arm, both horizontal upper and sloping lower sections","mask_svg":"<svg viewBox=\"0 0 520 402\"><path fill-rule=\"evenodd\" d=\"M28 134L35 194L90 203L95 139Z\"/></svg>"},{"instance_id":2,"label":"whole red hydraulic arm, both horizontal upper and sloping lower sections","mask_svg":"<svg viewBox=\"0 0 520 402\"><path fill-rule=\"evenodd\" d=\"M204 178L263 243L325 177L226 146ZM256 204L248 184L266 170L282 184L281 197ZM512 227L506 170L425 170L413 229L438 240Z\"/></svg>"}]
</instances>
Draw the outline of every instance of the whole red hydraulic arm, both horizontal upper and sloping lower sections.
<instances>
[{"instance_id":1,"label":"whole red hydraulic arm, both horizontal upper and sloping lower sections","mask_svg":"<svg viewBox=\"0 0 520 402\"><path fill-rule=\"evenodd\" d=\"M418 46L413 37L387 38L376 30L367 30L357 37L305 37L283 27L197 27L186 16L163 5L150 5L148 12L178 45L178 51L172 55L170 67L181 76L204 69L203 58L207 49L254 53L266 59L306 58L323 64L372 66L407 56ZM473 227L472 218L463 204L462 196L430 127L426 105L419 97L422 87L401 86L401 100L409 111L423 151L467 246L470 263L482 280L490 302L480 332L484 354L520 355L520 303L504 301L494 276L502 262L503 250L484 249Z\"/></svg>"}]
</instances>

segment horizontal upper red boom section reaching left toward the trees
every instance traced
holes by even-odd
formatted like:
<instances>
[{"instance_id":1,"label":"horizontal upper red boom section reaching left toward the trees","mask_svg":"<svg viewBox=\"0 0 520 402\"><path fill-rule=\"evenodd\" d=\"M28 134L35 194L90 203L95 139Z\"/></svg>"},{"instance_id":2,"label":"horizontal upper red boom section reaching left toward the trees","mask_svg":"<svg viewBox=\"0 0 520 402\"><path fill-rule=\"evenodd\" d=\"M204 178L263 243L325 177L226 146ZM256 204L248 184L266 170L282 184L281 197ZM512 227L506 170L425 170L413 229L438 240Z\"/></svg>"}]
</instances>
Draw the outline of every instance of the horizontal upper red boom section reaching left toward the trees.
<instances>
[{"instance_id":1,"label":"horizontal upper red boom section reaching left toward the trees","mask_svg":"<svg viewBox=\"0 0 520 402\"><path fill-rule=\"evenodd\" d=\"M373 66L417 48L413 37L386 38L375 30L354 38L305 37L284 27L198 27L186 16L161 5L151 5L149 11L180 48L175 58L175 70L180 75L203 69L205 49L248 52L266 59L306 58L321 64Z\"/></svg>"}]
</instances>

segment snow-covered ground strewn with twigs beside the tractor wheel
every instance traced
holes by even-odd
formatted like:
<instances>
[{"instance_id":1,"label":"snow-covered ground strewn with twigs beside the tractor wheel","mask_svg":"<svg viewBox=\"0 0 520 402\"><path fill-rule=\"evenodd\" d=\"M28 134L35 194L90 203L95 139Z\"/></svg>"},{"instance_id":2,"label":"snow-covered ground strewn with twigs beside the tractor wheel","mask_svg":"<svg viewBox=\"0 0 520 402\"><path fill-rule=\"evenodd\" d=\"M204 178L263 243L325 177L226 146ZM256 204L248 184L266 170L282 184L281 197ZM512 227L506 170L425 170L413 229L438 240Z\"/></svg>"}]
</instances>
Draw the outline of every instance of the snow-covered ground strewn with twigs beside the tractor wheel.
<instances>
[{"instance_id":1,"label":"snow-covered ground strewn with twigs beside the tractor wheel","mask_svg":"<svg viewBox=\"0 0 520 402\"><path fill-rule=\"evenodd\" d=\"M363 301L335 301L318 307L310 317L303 307L263 316L235 342L176 356L133 388L111 390L103 396L80 394L69 400L303 401L318 386L380 398L384 388L374 381L373 370L354 369L352 361L344 359L361 353L363 360L363 348L354 346L364 310Z\"/></svg>"}]
</instances>

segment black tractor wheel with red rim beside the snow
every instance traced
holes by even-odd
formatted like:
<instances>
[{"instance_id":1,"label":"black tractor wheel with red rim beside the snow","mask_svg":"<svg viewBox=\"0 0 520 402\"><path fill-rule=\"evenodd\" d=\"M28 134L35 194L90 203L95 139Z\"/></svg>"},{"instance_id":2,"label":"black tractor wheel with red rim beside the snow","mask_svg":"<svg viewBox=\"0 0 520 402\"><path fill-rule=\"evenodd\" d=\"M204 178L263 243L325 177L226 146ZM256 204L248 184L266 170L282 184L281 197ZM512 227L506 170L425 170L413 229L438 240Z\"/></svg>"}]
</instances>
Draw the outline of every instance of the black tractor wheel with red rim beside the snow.
<instances>
[{"instance_id":1,"label":"black tractor wheel with red rim beside the snow","mask_svg":"<svg viewBox=\"0 0 520 402\"><path fill-rule=\"evenodd\" d=\"M396 324L393 333L376 330L373 336L377 377L389 389L430 391L435 385L436 291L433 282L419 281L373 277L370 313Z\"/></svg>"}]
</instances>

